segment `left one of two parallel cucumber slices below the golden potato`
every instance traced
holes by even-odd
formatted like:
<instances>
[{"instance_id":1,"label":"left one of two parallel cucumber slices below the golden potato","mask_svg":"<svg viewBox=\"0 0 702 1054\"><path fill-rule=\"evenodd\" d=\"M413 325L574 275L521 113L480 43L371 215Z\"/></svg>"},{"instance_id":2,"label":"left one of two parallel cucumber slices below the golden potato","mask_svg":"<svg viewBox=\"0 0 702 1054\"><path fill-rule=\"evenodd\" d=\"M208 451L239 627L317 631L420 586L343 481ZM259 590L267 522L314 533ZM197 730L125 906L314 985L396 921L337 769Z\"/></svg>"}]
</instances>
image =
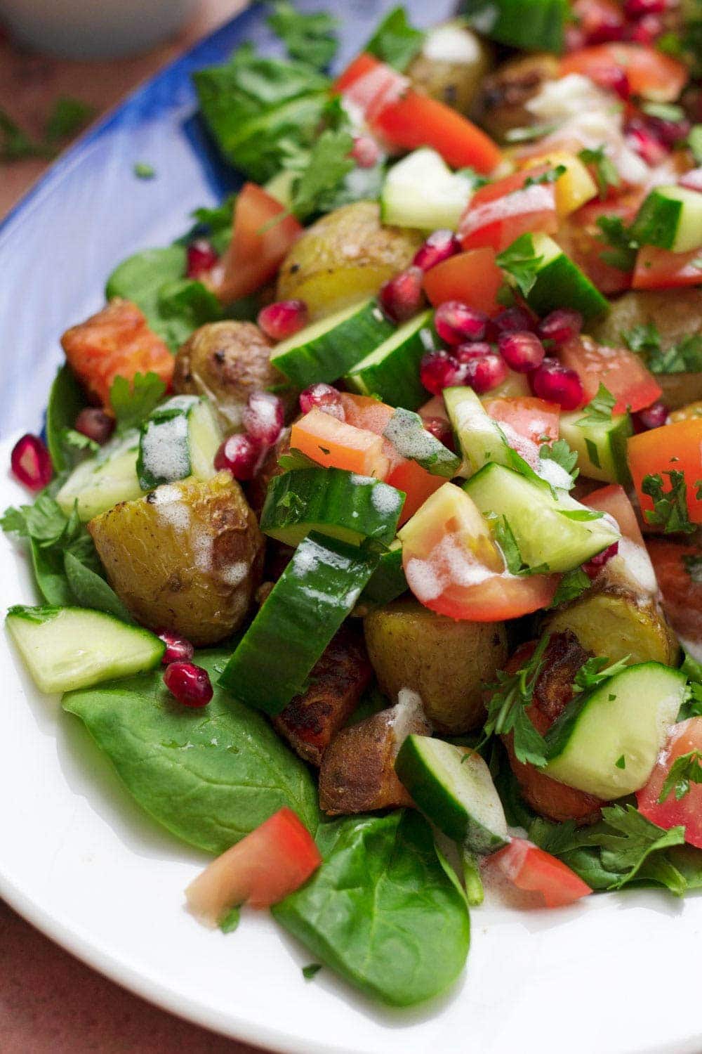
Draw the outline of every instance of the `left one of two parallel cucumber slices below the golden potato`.
<instances>
[{"instance_id":1,"label":"left one of two parallel cucumber slices below the golden potato","mask_svg":"<svg viewBox=\"0 0 702 1054\"><path fill-rule=\"evenodd\" d=\"M282 340L270 362L299 388L336 380L395 332L377 300L364 300Z\"/></svg>"}]
</instances>

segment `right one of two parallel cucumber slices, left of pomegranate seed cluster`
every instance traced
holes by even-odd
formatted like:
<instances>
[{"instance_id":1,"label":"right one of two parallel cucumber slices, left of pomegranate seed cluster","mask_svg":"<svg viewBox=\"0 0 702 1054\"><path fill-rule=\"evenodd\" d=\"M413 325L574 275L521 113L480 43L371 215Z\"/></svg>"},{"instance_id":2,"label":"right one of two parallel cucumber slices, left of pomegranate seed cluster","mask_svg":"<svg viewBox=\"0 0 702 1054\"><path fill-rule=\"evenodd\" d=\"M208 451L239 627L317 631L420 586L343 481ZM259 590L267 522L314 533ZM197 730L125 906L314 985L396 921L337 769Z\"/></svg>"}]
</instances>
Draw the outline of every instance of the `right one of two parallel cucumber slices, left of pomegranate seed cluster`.
<instances>
[{"instance_id":1,"label":"right one of two parallel cucumber slices, left of pomegranate seed cluster","mask_svg":"<svg viewBox=\"0 0 702 1054\"><path fill-rule=\"evenodd\" d=\"M406 410L416 410L426 403L419 364L425 352L439 347L433 317L433 311L423 311L400 326L346 374L348 387L361 395L378 395L383 403Z\"/></svg>"}]
</instances>

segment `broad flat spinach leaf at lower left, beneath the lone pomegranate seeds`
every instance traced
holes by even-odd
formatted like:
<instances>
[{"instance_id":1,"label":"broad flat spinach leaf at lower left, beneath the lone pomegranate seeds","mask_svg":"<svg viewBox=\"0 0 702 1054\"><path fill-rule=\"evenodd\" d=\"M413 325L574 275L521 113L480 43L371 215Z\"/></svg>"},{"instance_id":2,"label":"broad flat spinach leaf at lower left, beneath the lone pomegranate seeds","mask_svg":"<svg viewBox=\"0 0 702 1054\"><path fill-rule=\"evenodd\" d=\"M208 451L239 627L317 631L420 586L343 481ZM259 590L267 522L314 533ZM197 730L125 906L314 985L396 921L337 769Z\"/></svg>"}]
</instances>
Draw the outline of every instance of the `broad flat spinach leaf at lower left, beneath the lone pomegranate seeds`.
<instances>
[{"instance_id":1,"label":"broad flat spinach leaf at lower left, beneath the lone pomegranate seeds","mask_svg":"<svg viewBox=\"0 0 702 1054\"><path fill-rule=\"evenodd\" d=\"M261 715L217 687L227 658L198 656L215 684L204 710L177 703L159 670L63 698L139 804L183 841L218 854L283 805L313 832L319 816L306 766Z\"/></svg>"}]
</instances>

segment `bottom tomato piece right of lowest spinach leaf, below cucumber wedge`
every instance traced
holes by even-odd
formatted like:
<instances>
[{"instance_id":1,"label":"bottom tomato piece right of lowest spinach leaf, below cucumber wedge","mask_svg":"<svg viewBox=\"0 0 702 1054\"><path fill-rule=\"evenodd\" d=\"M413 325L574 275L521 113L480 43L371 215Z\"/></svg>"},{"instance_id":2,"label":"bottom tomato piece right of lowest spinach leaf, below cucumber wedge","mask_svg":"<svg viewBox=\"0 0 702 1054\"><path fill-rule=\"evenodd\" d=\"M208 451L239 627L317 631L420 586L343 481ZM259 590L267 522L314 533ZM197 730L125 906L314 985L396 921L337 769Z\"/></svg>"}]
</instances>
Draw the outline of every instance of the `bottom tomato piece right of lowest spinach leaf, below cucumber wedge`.
<instances>
[{"instance_id":1,"label":"bottom tomato piece right of lowest spinach leaf, below cucumber wedge","mask_svg":"<svg viewBox=\"0 0 702 1054\"><path fill-rule=\"evenodd\" d=\"M565 907L593 892L562 860L525 838L513 838L488 862L518 890L540 893L546 907Z\"/></svg>"}]
</instances>

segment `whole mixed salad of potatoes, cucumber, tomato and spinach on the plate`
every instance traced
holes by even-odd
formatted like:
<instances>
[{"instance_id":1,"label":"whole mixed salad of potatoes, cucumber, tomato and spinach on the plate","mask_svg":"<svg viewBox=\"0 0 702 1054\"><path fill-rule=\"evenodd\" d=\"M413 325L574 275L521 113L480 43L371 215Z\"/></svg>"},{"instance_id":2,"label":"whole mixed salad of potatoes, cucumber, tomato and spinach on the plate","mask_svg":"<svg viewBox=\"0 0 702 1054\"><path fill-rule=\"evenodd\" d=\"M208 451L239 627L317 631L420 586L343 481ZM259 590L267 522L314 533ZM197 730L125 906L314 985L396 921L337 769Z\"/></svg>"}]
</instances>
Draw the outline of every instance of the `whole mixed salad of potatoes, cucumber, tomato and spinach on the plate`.
<instances>
[{"instance_id":1,"label":"whole mixed salad of potatoes, cucumber, tomato and spinach on the plate","mask_svg":"<svg viewBox=\"0 0 702 1054\"><path fill-rule=\"evenodd\" d=\"M194 78L241 189L12 451L6 627L212 854L194 925L406 1007L485 884L702 887L702 9L396 7L336 78L332 15L268 22Z\"/></svg>"}]
</instances>

